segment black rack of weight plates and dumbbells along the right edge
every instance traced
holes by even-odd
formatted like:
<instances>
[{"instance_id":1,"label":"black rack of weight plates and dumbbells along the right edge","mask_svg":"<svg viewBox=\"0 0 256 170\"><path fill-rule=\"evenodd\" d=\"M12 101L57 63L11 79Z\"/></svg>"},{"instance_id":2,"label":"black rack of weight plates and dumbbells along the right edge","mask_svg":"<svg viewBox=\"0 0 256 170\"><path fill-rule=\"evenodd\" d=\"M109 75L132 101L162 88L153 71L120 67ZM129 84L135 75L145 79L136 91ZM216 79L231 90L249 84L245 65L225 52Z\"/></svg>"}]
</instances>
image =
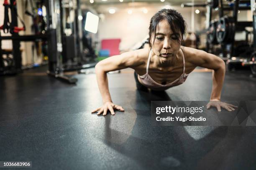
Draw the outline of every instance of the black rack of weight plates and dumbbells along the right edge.
<instances>
[{"instance_id":1,"label":"black rack of weight plates and dumbbells along the right edge","mask_svg":"<svg viewBox=\"0 0 256 170\"><path fill-rule=\"evenodd\" d=\"M231 0L228 0L231 1ZM256 75L256 24L255 24L255 0L251 1L240 1L240 0L234 0L233 7L224 7L222 0L218 0L218 12L220 19L218 20L217 27L215 27L215 30L212 31L213 29L211 27L214 27L213 25L215 23L210 23L209 28L207 31L207 50L209 50L210 44L216 45L220 44L221 45L221 51L222 53L220 54L220 58L222 58L224 61L226 61L226 66L227 68L230 67L231 64L238 64L242 66L251 66L251 71L253 75ZM240 4L241 2L241 4ZM251 4L251 7L248 7L248 4ZM240 6L241 5L241 6ZM245 7L246 6L246 7ZM233 16L232 17L223 17L223 11L224 10L233 10ZM237 15L238 15L238 10L251 10L252 11L252 16L253 16L253 22L238 22L237 21ZM211 13L210 13L210 20L211 20ZM243 57L237 57L234 56L234 37L236 31L244 31L246 27L253 27L253 47L254 47L254 52L251 55L245 55ZM216 32L216 39L214 39L214 34ZM248 33L248 32L247 32ZM226 35L225 35L226 34ZM209 38L209 35L210 38ZM223 36L225 35L225 36ZM247 35L247 34L246 34ZM225 38L224 38L225 37ZM247 38L246 38L247 40ZM209 44L210 41L210 44ZM212 43L213 42L213 43ZM228 50L228 53L226 54L226 49L227 47L230 47ZM247 53L253 51L252 46L248 48ZM245 51L246 52L246 51Z\"/></svg>"}]
</instances>

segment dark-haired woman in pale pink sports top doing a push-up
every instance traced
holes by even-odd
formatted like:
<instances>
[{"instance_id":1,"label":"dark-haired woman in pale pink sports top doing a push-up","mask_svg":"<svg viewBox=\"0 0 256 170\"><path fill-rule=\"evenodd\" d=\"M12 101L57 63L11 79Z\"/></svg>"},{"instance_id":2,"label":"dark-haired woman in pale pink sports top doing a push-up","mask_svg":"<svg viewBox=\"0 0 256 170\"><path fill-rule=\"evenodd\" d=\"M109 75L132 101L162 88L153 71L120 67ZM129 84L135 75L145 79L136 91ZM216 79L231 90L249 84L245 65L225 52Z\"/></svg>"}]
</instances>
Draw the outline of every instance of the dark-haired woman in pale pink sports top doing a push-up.
<instances>
[{"instance_id":1,"label":"dark-haired woman in pale pink sports top doing a push-up","mask_svg":"<svg viewBox=\"0 0 256 170\"><path fill-rule=\"evenodd\" d=\"M186 23L180 13L163 9L150 21L149 47L108 57L97 63L95 72L103 105L92 112L106 115L108 110L124 111L115 105L108 89L107 72L132 68L138 90L166 90L184 83L197 66L212 69L212 92L207 108L223 107L228 111L236 106L221 102L220 95L225 77L225 62L213 54L182 46ZM217 102L213 102L217 101Z\"/></svg>"}]
</instances>

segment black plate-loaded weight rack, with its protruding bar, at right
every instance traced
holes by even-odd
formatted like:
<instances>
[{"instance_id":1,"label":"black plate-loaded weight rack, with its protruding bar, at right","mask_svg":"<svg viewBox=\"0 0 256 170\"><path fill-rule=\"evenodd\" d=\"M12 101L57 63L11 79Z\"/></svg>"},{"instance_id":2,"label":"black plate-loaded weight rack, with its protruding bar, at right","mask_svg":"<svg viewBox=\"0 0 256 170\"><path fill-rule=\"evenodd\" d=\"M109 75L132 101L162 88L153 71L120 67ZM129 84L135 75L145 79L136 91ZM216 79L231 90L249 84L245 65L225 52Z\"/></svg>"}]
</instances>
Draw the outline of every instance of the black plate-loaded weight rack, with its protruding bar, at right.
<instances>
[{"instance_id":1,"label":"black plate-loaded weight rack, with its protruding bar, at right","mask_svg":"<svg viewBox=\"0 0 256 170\"><path fill-rule=\"evenodd\" d=\"M232 0L228 0L232 1ZM241 2L241 6L239 6L239 3ZM243 6L243 4L251 4L251 7L247 7L246 5ZM226 61L226 65L230 65L230 63L241 63L241 65L246 66L250 65L251 70L253 72L253 75L256 75L256 3L255 0L251 1L245 1L245 0L234 0L233 6L224 6L223 0L207 0L205 3L183 3L181 7L192 7L192 6L200 6L200 7L207 7L207 21L208 21L208 30L207 32L207 42L206 42L206 51L208 52L210 50L210 45L221 45L221 51L220 58L222 58L224 61ZM233 17L230 17L232 21L230 22L232 26L232 33L228 35L229 39L225 39L224 41L218 42L216 39L216 23L217 21L212 21L212 9L217 9L219 12L219 18L223 18L223 12L224 11L230 11L233 10ZM238 22L237 21L237 15L238 10L251 10L253 14L253 22ZM224 18L222 20L225 20ZM248 57L233 57L234 53L234 37L236 31L245 30L245 27L253 27L253 47L254 52L251 55L250 59L248 60ZM220 32L223 31L220 28ZM224 30L225 31L225 30ZM209 36L210 35L210 36ZM209 40L210 39L210 40ZM220 41L220 40L219 40ZM228 42L227 42L228 41ZM230 52L228 55L226 55L225 49L226 46L230 45Z\"/></svg>"}]
</instances>

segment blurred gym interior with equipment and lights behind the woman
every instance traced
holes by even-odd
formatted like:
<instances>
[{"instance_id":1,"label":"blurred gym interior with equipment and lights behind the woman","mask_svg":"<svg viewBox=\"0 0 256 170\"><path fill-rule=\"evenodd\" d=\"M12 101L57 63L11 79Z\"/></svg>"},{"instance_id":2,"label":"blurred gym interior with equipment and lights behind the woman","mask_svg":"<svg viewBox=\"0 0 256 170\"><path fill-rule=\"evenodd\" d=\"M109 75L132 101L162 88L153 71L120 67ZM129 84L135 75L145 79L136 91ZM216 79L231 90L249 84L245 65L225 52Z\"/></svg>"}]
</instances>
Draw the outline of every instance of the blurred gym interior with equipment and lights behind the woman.
<instances>
[{"instance_id":1,"label":"blurred gym interior with equipment and lights behind the woman","mask_svg":"<svg viewBox=\"0 0 256 170\"><path fill-rule=\"evenodd\" d=\"M0 0L4 3L9 8L0 5L0 25L8 23L8 15L10 26L0 32L2 75L40 65L53 74L81 72L106 57L143 48L151 17L164 8L184 17L185 46L223 58L229 70L255 71L249 63L255 57L253 0ZM13 23L21 29L12 33Z\"/></svg>"}]
</instances>

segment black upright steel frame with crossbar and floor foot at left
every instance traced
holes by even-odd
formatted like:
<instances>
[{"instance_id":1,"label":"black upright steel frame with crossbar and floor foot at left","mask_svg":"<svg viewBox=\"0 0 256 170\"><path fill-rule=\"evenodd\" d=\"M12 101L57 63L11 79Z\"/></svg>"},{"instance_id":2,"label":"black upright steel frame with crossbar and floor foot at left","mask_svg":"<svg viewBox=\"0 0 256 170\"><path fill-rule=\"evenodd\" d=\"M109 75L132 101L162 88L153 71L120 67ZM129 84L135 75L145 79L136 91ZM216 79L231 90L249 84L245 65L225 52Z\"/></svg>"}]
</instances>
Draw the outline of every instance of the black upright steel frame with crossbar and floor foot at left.
<instances>
[{"instance_id":1,"label":"black upright steel frame with crossbar and floor foot at left","mask_svg":"<svg viewBox=\"0 0 256 170\"><path fill-rule=\"evenodd\" d=\"M40 33L38 35L18 35L18 32L13 32L12 36L0 36L0 74L7 75L7 72L4 68L4 61L2 57L2 49L1 49L1 40L13 40L13 58L15 67L13 69L13 73L19 72L21 70L21 54L20 54L20 41L36 41L36 40L44 40L47 41L48 49L48 58L49 58L49 70L47 71L48 75L51 75L55 78L59 78L61 80L65 80L69 83L77 82L76 78L69 77L63 74L62 67L62 42L61 42L61 28L60 28L60 14L55 13L54 11L60 10L60 1L59 0L45 0L46 6L46 23L47 23L47 31L44 33ZM10 0L10 4L15 4L15 0ZM12 17L12 25L13 27L17 27L18 22L17 18L17 9L11 8L11 17Z\"/></svg>"}]
</instances>

